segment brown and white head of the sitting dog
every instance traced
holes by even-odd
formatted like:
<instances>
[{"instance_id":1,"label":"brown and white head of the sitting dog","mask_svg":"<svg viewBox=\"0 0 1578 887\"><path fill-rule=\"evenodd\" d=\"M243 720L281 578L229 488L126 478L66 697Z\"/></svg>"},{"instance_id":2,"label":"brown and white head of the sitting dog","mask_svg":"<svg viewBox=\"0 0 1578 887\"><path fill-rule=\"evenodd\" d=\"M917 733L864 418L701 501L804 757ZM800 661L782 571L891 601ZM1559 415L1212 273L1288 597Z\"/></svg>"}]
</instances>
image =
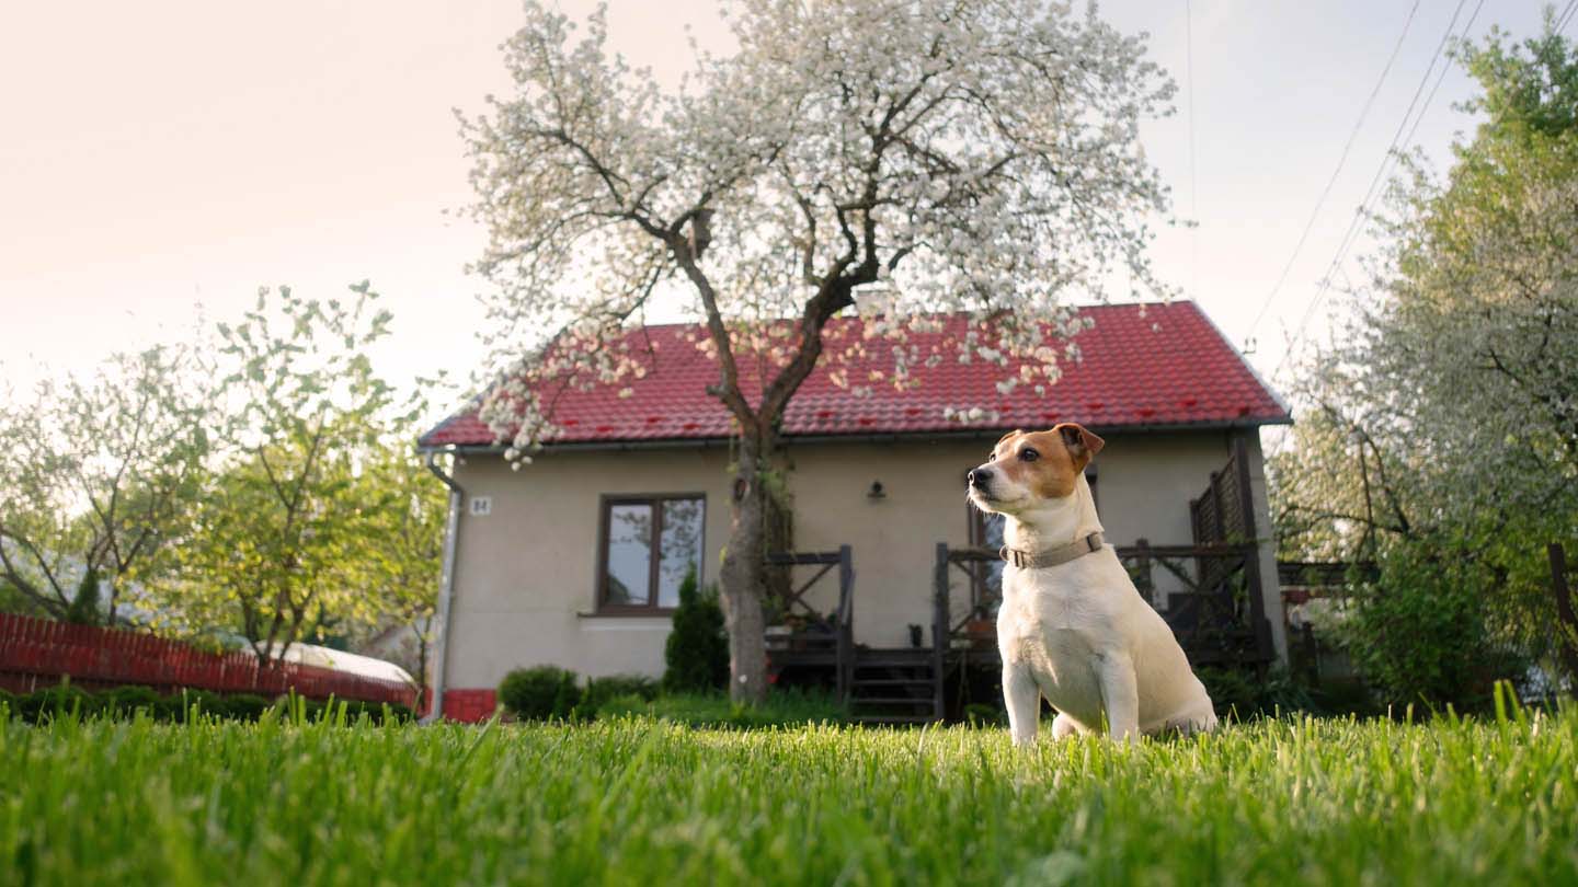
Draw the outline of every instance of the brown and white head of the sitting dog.
<instances>
[{"instance_id":1,"label":"brown and white head of the sitting dog","mask_svg":"<svg viewBox=\"0 0 1578 887\"><path fill-rule=\"evenodd\" d=\"M993 447L991 459L969 472L969 499L982 511L1016 515L1073 496L1079 473L1106 442L1083 425L1051 431L1013 431Z\"/></svg>"}]
</instances>

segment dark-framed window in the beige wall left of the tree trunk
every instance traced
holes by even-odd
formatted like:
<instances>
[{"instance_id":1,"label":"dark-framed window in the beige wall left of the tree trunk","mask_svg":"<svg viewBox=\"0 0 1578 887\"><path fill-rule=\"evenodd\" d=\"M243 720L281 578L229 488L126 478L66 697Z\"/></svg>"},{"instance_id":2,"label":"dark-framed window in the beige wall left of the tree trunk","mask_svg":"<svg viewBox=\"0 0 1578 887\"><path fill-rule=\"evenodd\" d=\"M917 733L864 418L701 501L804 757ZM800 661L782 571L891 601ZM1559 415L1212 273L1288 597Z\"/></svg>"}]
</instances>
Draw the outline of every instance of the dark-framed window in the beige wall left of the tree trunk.
<instances>
[{"instance_id":1,"label":"dark-framed window in the beige wall left of the tree trunk","mask_svg":"<svg viewBox=\"0 0 1578 887\"><path fill-rule=\"evenodd\" d=\"M603 500L598 612L661 612L679 606L685 573L702 563L707 500L619 496ZM656 540L656 545L653 545Z\"/></svg>"}]
</instances>

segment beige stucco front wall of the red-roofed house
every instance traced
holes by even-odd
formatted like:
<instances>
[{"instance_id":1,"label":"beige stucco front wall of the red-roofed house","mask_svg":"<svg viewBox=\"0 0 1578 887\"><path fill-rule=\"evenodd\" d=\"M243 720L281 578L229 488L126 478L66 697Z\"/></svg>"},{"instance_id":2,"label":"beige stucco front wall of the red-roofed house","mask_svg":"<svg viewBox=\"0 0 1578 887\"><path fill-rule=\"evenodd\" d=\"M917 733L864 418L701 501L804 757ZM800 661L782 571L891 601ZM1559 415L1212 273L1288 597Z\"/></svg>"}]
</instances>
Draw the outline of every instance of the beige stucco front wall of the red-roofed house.
<instances>
[{"instance_id":1,"label":"beige stucco front wall of the red-roofed house","mask_svg":"<svg viewBox=\"0 0 1578 887\"><path fill-rule=\"evenodd\" d=\"M906 646L911 623L926 627L929 642L936 545L969 541L964 472L989 447L906 440L791 450L795 548L854 546L860 642ZM1258 469L1258 447L1255 453ZM1228 455L1225 431L1109 436L1097 466L1108 540L1188 543L1188 499ZM497 456L456 466L467 496L488 496L492 507L486 516L462 508L445 683L494 687L511 668L540 663L589 676L661 674L667 619L584 616L593 609L601 496L705 494L702 578L715 581L729 532L726 466L721 448L546 453L518 472ZM885 497L873 500L877 480ZM1275 578L1273 567L1266 574ZM963 576L955 578L963 587ZM806 600L832 611L836 574Z\"/></svg>"}]
</instances>

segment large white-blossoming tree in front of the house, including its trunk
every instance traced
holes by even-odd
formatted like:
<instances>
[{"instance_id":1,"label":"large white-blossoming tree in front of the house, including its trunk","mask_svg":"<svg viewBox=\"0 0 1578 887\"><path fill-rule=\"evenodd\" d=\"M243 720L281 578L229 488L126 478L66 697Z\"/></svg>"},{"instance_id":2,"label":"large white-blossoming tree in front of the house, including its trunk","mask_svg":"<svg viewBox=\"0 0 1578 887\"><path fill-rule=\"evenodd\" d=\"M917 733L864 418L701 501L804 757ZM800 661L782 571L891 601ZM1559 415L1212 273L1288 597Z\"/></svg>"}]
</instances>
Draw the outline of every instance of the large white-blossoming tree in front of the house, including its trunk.
<instances>
[{"instance_id":1,"label":"large white-blossoming tree in front of the house, including its trunk","mask_svg":"<svg viewBox=\"0 0 1578 887\"><path fill-rule=\"evenodd\" d=\"M709 393L739 436L723 560L732 693L765 691L764 478L780 417L819 365L907 385L977 360L1002 385L1056 379L1065 294L1155 290L1149 224L1168 197L1138 140L1172 84L1095 11L1041 0L731 5L737 51L697 51L671 92L540 3L505 46L513 95L462 120L491 243L494 344L516 357L484 402L508 456L552 437L552 391L641 372L620 336L655 305L701 320ZM830 341L839 313L860 341ZM967 313L948 354L909 333ZM852 354L892 372L852 379ZM1011 376L1002 369L1024 366ZM996 369L994 369L996 368Z\"/></svg>"}]
</instances>

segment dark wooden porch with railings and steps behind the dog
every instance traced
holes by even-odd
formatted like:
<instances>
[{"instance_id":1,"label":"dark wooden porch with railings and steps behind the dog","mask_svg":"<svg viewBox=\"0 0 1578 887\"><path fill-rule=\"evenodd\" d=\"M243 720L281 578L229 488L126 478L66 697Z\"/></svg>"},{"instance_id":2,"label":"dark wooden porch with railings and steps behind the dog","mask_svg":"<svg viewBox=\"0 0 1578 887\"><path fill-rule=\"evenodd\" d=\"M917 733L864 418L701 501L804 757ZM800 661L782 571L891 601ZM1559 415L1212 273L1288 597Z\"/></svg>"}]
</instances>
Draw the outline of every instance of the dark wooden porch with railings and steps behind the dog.
<instances>
[{"instance_id":1,"label":"dark wooden porch with railings and steps behind the dog","mask_svg":"<svg viewBox=\"0 0 1578 887\"><path fill-rule=\"evenodd\" d=\"M1161 614L1195 666L1262 669L1275 660L1264 611L1259 543L1243 440L1221 470L1190 500L1188 543L1117 546L1139 593ZM982 545L937 543L931 625L911 625L907 647L857 642L855 560L851 546L822 552L775 552L776 604L784 625L768 630L776 680L822 683L869 723L926 723L958 718L972 680L996 680L1000 668L996 609L1000 603L1000 532ZM806 597L836 571L832 612ZM928 593L917 589L917 593Z\"/></svg>"}]
</instances>

